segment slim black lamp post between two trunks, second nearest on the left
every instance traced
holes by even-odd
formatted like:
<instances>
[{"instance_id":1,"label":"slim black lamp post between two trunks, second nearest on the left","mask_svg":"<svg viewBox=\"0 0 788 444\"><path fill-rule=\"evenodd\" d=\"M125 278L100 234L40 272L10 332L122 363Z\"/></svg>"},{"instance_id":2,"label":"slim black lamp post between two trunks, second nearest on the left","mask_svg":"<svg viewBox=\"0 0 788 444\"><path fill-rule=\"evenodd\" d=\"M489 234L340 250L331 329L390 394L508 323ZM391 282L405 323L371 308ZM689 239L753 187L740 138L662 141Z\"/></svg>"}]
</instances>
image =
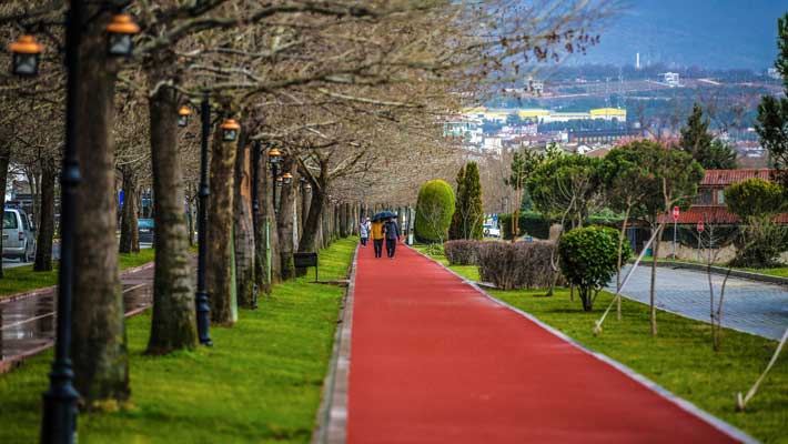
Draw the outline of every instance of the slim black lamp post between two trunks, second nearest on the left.
<instances>
[{"instance_id":1,"label":"slim black lamp post between two trunks, second nearest on the left","mask_svg":"<svg viewBox=\"0 0 788 444\"><path fill-rule=\"evenodd\" d=\"M208 291L205 289L205 265L208 263L208 196L211 194L208 188L208 138L211 134L211 104L208 92L200 103L200 118L202 119L202 134L200 143L200 208L198 209L198 289L195 293L198 336L200 343L211 346L213 342L209 335L211 320L209 313L211 307L208 304Z\"/></svg>"}]
</instances>

